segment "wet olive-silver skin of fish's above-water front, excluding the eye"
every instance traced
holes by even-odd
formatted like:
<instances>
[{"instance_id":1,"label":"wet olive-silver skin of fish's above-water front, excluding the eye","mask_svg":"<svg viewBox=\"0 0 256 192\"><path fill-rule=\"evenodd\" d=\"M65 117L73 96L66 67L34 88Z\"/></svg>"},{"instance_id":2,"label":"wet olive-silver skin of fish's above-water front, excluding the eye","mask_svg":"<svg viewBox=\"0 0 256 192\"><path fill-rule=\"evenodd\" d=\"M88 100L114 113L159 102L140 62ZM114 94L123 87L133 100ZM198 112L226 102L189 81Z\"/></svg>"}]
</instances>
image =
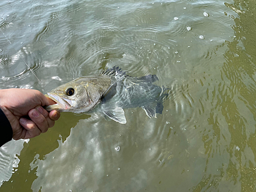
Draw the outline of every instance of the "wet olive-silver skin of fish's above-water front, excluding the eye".
<instances>
[{"instance_id":1,"label":"wet olive-silver skin of fish's above-water front, excluding the eye","mask_svg":"<svg viewBox=\"0 0 256 192\"><path fill-rule=\"evenodd\" d=\"M83 113L93 110L100 102L102 95L112 85L109 76L79 77L53 89L46 96L57 104L46 106L46 110L59 112ZM67 89L73 88L75 94L67 95Z\"/></svg>"}]
</instances>

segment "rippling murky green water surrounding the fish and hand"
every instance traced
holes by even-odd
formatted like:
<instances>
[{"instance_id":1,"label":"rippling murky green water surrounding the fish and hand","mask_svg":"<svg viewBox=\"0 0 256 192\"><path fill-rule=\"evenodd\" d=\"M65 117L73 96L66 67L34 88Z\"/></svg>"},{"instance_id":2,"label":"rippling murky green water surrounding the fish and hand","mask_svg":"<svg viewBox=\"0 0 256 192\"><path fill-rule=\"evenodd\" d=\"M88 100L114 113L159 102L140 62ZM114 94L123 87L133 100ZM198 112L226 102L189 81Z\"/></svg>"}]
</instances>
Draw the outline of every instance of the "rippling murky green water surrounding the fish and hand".
<instances>
[{"instance_id":1,"label":"rippling murky green water surrounding the fish and hand","mask_svg":"<svg viewBox=\"0 0 256 192\"><path fill-rule=\"evenodd\" d=\"M255 5L1 1L0 89L47 93L119 66L172 94L157 119L62 113L7 143L0 191L255 191Z\"/></svg>"}]
</instances>

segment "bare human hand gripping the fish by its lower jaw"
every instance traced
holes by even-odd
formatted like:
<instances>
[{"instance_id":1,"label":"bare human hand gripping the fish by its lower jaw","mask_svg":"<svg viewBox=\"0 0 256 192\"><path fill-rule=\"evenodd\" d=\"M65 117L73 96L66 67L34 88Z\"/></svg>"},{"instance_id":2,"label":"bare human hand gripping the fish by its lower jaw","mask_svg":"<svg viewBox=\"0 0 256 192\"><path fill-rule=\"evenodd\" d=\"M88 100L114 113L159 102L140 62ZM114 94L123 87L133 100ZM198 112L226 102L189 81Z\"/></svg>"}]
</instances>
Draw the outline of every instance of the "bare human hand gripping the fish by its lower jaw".
<instances>
[{"instance_id":1,"label":"bare human hand gripping the fish by its lower jaw","mask_svg":"<svg viewBox=\"0 0 256 192\"><path fill-rule=\"evenodd\" d=\"M29 139L47 132L58 120L60 113L48 113L42 106L56 104L37 90L4 89L0 90L0 108L10 121L12 138ZM29 116L31 120L24 118Z\"/></svg>"}]
</instances>

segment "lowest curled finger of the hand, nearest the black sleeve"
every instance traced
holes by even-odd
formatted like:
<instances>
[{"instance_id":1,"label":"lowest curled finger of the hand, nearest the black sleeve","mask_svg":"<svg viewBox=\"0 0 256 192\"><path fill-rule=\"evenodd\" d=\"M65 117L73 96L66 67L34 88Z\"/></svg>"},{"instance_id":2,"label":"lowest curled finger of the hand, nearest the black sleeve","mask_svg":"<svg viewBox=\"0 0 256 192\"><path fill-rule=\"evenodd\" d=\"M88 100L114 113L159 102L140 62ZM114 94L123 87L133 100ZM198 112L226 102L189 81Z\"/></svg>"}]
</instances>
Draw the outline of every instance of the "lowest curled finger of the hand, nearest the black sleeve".
<instances>
[{"instance_id":1,"label":"lowest curled finger of the hand, nearest the black sleeve","mask_svg":"<svg viewBox=\"0 0 256 192\"><path fill-rule=\"evenodd\" d=\"M31 120L20 118L19 123L24 127L24 129L27 130L24 139L30 139L41 134L41 131L38 129L36 124Z\"/></svg>"}]
</instances>

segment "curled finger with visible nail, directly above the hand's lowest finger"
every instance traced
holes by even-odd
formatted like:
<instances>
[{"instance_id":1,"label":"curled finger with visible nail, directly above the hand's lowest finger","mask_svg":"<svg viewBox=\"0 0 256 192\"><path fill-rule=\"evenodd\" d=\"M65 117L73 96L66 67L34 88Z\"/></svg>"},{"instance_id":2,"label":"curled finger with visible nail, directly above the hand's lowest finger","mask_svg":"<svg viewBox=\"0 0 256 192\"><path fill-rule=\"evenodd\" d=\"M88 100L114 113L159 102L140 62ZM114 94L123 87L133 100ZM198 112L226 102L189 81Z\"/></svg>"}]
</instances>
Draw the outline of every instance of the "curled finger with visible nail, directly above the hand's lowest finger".
<instances>
[{"instance_id":1,"label":"curled finger with visible nail, directly above the hand's lowest finger","mask_svg":"<svg viewBox=\"0 0 256 192\"><path fill-rule=\"evenodd\" d=\"M29 111L29 117L36 124L41 133L47 132L49 126L46 118L40 114L36 109Z\"/></svg>"}]
</instances>

